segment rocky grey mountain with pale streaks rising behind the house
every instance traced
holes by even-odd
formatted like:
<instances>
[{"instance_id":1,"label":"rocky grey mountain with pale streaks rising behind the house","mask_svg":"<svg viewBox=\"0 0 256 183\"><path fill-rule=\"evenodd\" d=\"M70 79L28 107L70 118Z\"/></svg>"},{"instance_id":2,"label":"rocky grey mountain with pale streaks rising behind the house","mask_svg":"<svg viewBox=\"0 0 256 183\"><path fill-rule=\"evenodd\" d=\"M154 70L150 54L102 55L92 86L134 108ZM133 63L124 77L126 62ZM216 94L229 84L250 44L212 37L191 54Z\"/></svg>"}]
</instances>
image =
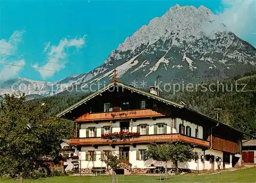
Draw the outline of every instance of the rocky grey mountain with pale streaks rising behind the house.
<instances>
[{"instance_id":1,"label":"rocky grey mountain with pale streaks rising behind the house","mask_svg":"<svg viewBox=\"0 0 256 183\"><path fill-rule=\"evenodd\" d=\"M142 26L119 44L101 66L93 71L70 76L54 83L37 82L41 88L26 94L51 96L76 87L83 89L90 83L108 83L117 69L118 78L125 83L154 84L160 75L163 82L202 82L243 75L256 69L256 49L243 41L224 25L216 26L214 15L204 6L170 8ZM18 78L0 85L9 93L11 83L33 83ZM49 88L55 88L54 91ZM40 91L38 91L38 89Z\"/></svg>"}]
</instances>

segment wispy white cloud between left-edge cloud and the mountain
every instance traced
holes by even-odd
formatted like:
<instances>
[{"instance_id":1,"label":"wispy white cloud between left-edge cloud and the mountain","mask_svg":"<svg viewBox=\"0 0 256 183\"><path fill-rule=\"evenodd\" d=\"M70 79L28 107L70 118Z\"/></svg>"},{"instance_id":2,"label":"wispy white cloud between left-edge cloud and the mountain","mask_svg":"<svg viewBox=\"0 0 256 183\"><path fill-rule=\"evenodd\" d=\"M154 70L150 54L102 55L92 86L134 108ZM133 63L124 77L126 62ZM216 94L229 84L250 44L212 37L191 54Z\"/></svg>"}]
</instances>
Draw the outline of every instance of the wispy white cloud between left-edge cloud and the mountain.
<instances>
[{"instance_id":1,"label":"wispy white cloud between left-edge cloud and the mountain","mask_svg":"<svg viewBox=\"0 0 256 183\"><path fill-rule=\"evenodd\" d=\"M37 70L41 77L46 79L52 77L55 72L60 71L65 68L67 63L67 57L69 54L67 51L70 47L80 49L85 41L86 35L83 37L76 37L74 39L63 38L59 41L59 44L50 46L50 42L47 43L44 52L47 53L47 63L45 65L39 66L38 64L33 65L34 68L40 68Z\"/></svg>"}]
</instances>

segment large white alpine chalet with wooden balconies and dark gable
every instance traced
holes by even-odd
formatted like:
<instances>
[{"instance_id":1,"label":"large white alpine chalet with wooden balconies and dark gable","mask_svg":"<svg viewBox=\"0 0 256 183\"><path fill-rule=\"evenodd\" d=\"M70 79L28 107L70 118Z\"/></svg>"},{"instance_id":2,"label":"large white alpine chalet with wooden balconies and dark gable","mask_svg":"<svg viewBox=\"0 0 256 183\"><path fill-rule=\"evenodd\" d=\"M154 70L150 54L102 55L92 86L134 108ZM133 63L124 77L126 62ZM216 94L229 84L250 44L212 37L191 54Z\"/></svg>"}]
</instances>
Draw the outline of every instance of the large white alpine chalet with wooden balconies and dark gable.
<instances>
[{"instance_id":1,"label":"large white alpine chalet with wooden balconies and dark gable","mask_svg":"<svg viewBox=\"0 0 256 183\"><path fill-rule=\"evenodd\" d=\"M157 94L154 87L147 92L114 80L57 115L75 119L75 138L70 145L79 149L83 172L105 167L100 158L109 150L119 151L125 159L123 168L135 173L164 166L152 159L144 161L147 145L153 142L194 145L197 158L179 163L179 168L222 169L241 163L243 132ZM115 142L101 138L102 133L119 131L140 132L140 136ZM167 167L172 168L173 163L168 162Z\"/></svg>"}]
</instances>

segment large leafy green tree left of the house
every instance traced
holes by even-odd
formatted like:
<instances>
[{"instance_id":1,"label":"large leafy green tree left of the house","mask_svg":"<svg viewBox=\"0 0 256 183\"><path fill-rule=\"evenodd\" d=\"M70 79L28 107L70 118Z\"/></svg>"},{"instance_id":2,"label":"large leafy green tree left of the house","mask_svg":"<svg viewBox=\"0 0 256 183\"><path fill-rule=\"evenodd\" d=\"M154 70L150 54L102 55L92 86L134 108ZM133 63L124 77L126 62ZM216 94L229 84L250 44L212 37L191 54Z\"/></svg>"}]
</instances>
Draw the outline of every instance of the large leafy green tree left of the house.
<instances>
[{"instance_id":1,"label":"large leafy green tree left of the house","mask_svg":"<svg viewBox=\"0 0 256 183\"><path fill-rule=\"evenodd\" d=\"M0 101L0 175L23 178L46 161L57 162L66 122L47 113L50 106L31 105L24 95Z\"/></svg>"}]
</instances>

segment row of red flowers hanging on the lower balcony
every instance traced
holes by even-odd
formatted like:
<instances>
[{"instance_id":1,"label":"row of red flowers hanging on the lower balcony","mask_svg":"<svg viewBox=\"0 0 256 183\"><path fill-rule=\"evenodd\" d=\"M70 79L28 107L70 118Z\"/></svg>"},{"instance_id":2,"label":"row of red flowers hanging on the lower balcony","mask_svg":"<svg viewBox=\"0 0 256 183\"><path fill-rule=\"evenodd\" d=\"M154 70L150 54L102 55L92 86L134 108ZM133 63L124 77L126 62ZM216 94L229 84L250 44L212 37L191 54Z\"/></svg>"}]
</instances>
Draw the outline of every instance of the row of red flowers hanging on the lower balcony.
<instances>
[{"instance_id":1,"label":"row of red flowers hanging on the lower balcony","mask_svg":"<svg viewBox=\"0 0 256 183\"><path fill-rule=\"evenodd\" d=\"M101 135L102 139L105 140L123 140L123 139L134 139L140 136L139 132L129 132L129 131L120 131L114 133L103 133Z\"/></svg>"}]
</instances>

